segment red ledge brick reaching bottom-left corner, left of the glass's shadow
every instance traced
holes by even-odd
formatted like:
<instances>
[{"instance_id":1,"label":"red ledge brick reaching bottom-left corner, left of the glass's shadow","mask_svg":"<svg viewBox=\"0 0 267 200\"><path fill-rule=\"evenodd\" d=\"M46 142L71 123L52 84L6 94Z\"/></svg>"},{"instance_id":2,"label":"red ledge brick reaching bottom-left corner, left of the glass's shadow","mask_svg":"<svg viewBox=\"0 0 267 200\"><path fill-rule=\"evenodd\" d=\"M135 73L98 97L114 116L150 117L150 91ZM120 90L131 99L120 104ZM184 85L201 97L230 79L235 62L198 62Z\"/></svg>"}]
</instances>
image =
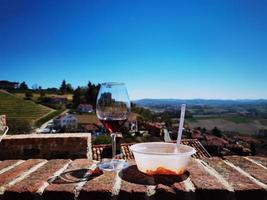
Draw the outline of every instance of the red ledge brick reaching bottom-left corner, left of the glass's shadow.
<instances>
[{"instance_id":1,"label":"red ledge brick reaching bottom-left corner, left of the glass's shadow","mask_svg":"<svg viewBox=\"0 0 267 200\"><path fill-rule=\"evenodd\" d=\"M10 199L33 199L38 189L43 186L55 172L64 167L70 160L50 160L45 165L33 172L19 183L11 186L5 191L4 197Z\"/></svg>"}]
</instances>

